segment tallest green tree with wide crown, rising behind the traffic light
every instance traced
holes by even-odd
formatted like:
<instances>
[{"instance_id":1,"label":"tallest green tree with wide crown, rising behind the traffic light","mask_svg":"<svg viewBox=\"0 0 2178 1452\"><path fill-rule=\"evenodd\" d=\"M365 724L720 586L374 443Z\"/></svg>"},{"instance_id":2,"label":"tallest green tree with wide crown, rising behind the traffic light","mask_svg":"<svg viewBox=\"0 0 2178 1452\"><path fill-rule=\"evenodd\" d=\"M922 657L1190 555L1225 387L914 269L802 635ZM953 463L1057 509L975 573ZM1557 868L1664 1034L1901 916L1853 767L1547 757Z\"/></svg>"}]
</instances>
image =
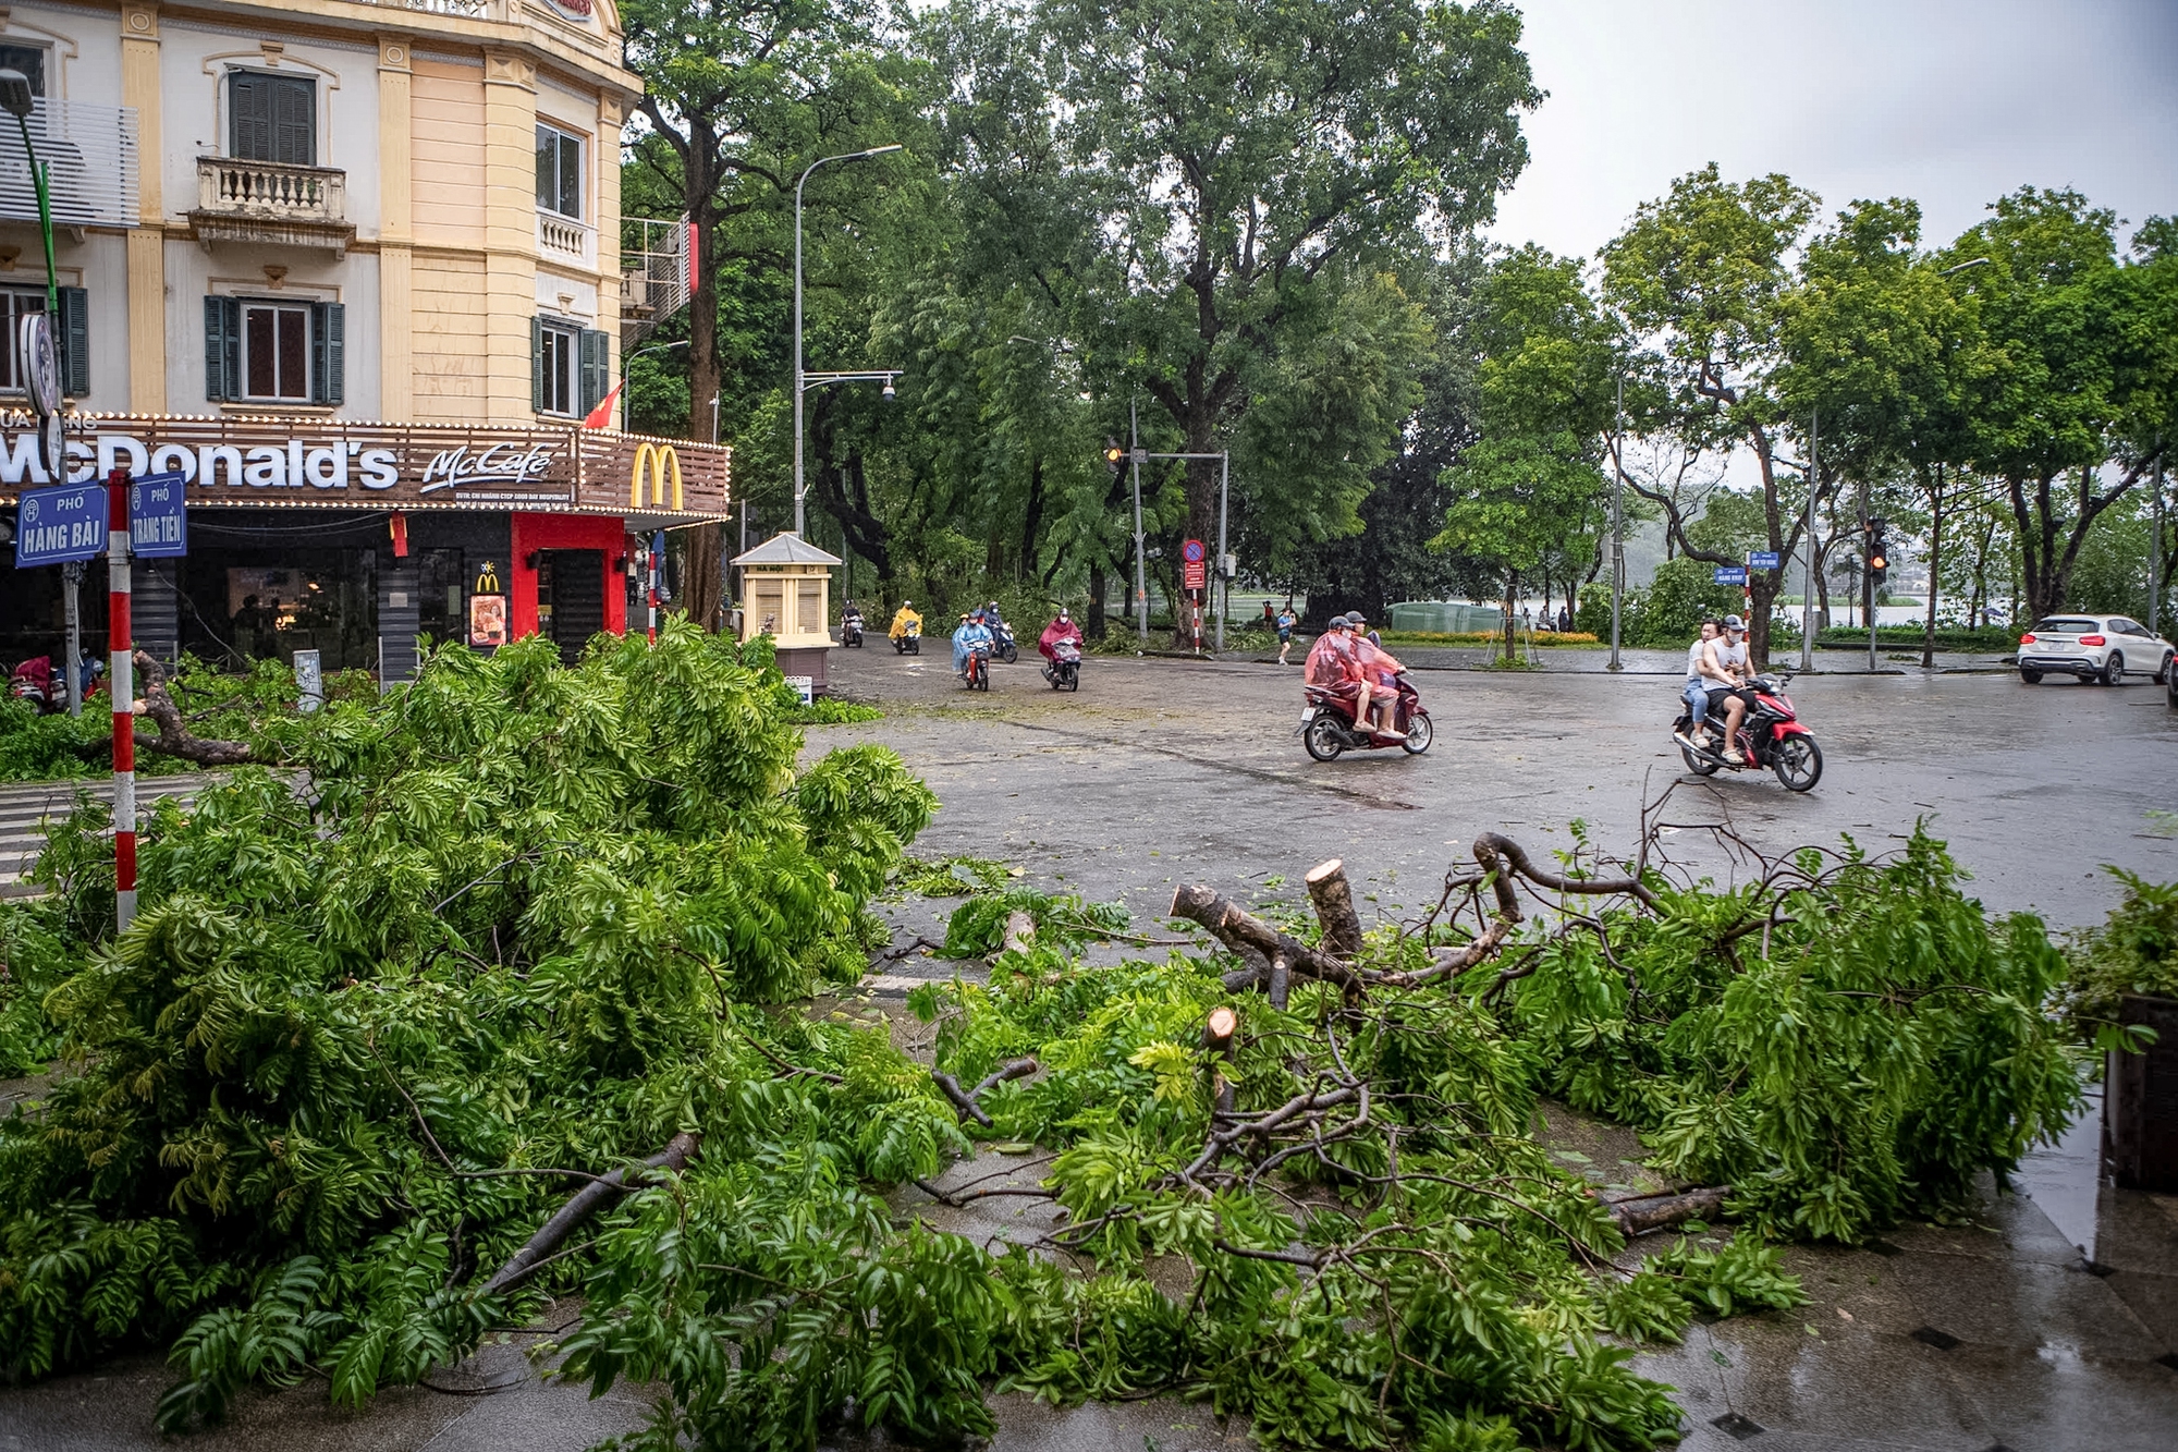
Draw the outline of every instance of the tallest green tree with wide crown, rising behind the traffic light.
<instances>
[{"instance_id":1,"label":"tallest green tree with wide crown, rising behind the traffic light","mask_svg":"<svg viewBox=\"0 0 2178 1452\"><path fill-rule=\"evenodd\" d=\"M1259 569L1350 534L1418 403L1411 259L1527 157L1518 15L958 0L932 26L974 251L1050 301L1106 416L1139 390L1152 447L1231 447ZM1176 523L1215 539L1215 462L1183 488Z\"/></svg>"}]
</instances>

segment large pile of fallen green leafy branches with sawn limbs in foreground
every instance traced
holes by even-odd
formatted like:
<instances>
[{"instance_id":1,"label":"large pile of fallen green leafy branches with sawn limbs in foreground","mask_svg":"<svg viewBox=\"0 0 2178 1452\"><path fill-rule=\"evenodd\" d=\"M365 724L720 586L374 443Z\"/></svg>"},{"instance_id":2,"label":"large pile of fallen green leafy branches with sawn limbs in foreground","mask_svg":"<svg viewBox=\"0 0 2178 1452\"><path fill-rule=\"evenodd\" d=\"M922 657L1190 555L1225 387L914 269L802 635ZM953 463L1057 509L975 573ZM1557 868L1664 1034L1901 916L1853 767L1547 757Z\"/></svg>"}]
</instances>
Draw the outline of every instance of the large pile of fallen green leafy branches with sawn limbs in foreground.
<instances>
[{"instance_id":1,"label":"large pile of fallen green leafy branches with sawn limbs in foreground","mask_svg":"<svg viewBox=\"0 0 2178 1452\"><path fill-rule=\"evenodd\" d=\"M1185 887L1218 951L1087 966L1115 909L908 863L930 794L878 748L797 772L791 713L686 626L444 652L250 741L292 772L161 804L120 942L81 813L0 909L72 1070L0 1125L7 1369L170 1343L181 1428L309 1369L362 1402L579 1291L566 1374L662 1382L658 1452L947 1439L993 1387L1204 1395L1294 1448L1651 1448L1679 1413L1627 1343L1797 1304L1777 1236L1943 1212L2078 1094L2060 955L1928 837L1716 890L1485 835L1418 924L1363 933L1324 863L1313 916ZM993 959L913 996L934 1066L773 1007L860 975L897 876ZM1542 1094L1686 1193L1605 1201ZM980 1140L1041 1182L941 1188ZM1000 1195L1063 1214L913 1212Z\"/></svg>"}]
</instances>

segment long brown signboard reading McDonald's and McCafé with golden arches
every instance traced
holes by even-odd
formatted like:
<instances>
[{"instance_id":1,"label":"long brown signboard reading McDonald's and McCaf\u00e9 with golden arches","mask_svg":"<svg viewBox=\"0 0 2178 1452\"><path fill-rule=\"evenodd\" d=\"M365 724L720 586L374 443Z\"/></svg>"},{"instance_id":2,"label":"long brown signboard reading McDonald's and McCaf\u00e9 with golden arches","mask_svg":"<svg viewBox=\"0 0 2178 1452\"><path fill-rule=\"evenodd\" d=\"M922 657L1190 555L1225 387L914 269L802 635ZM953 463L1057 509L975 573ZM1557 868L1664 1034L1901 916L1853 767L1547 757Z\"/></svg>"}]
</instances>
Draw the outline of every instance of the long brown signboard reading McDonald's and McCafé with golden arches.
<instances>
[{"instance_id":1,"label":"long brown signboard reading McDonald's and McCaf\u00e9 with golden arches","mask_svg":"<svg viewBox=\"0 0 2178 1452\"><path fill-rule=\"evenodd\" d=\"M507 429L285 419L68 421L68 482L179 471L192 504L725 515L730 449L608 429ZM675 499L636 475L675 460ZM0 495L52 484L28 414L0 414ZM653 504L656 499L656 504Z\"/></svg>"}]
</instances>

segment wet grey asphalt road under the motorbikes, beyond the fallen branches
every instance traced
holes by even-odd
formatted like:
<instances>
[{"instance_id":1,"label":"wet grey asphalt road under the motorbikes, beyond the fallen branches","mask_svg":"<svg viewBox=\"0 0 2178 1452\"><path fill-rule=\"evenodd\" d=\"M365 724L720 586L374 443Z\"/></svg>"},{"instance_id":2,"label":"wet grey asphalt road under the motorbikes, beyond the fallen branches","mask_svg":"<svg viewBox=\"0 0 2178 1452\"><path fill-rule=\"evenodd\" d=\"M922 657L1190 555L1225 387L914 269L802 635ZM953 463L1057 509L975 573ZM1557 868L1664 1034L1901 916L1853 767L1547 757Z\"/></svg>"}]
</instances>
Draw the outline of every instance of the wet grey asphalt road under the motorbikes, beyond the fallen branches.
<instances>
[{"instance_id":1,"label":"wet grey asphalt road under the motorbikes, beyond the fallen branches","mask_svg":"<svg viewBox=\"0 0 2178 1452\"><path fill-rule=\"evenodd\" d=\"M939 794L921 855L1004 857L1030 879L1161 916L1174 883L1226 892L1344 857L1379 913L1435 900L1481 831L1564 848L1588 824L1631 852L1644 802L1671 794L1662 848L1729 881L1755 850L1873 850L1914 820L1951 844L1997 911L2056 927L2117 900L2100 868L2178 874L2178 711L2145 680L2117 689L2017 676L1845 676L1792 682L1823 746L1823 781L1786 791L1766 772L1694 778L1671 741L1677 682L1662 676L1416 671L1435 722L1424 757L1316 763L1298 726L1300 671L1259 663L1093 656L1080 693L1054 693L1030 656L969 693L943 654L882 641L832 652L832 687L886 719L810 730L810 748L882 741Z\"/></svg>"}]
</instances>

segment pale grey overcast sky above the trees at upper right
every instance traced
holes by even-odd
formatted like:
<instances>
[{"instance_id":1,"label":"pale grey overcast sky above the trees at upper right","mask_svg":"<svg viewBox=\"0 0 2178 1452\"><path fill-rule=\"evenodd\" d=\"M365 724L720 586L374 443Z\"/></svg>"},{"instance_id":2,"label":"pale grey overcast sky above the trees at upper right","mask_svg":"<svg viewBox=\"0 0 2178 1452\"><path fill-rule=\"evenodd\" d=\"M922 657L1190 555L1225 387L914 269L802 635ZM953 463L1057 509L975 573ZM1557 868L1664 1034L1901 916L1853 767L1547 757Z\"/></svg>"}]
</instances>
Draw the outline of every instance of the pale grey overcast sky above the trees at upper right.
<instances>
[{"instance_id":1,"label":"pale grey overcast sky above the trees at upper right","mask_svg":"<svg viewBox=\"0 0 2178 1452\"><path fill-rule=\"evenodd\" d=\"M1825 216L1912 196L1949 242L1997 196L2076 187L2178 211L2178 0L1522 0L1529 168L1501 242L1594 255L1716 161L1786 172ZM2119 233L2126 235L2124 231Z\"/></svg>"}]
</instances>

